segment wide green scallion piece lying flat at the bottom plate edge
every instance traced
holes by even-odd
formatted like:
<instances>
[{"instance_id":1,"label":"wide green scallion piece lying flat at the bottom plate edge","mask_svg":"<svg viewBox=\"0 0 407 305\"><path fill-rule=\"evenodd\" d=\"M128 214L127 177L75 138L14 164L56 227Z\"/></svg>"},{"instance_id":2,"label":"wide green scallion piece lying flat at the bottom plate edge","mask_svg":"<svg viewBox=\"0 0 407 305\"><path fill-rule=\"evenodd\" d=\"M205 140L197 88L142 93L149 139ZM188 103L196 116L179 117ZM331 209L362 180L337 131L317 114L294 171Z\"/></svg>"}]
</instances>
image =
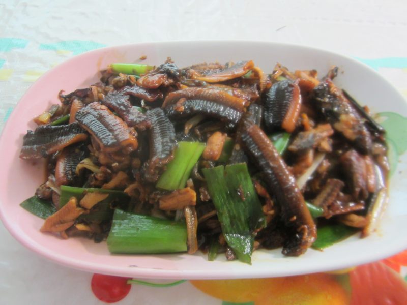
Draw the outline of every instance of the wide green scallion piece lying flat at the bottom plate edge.
<instances>
[{"instance_id":1,"label":"wide green scallion piece lying flat at the bottom plate edge","mask_svg":"<svg viewBox=\"0 0 407 305\"><path fill-rule=\"evenodd\" d=\"M111 253L154 254L187 251L185 222L133 214L116 209L107 237Z\"/></svg>"}]
</instances>

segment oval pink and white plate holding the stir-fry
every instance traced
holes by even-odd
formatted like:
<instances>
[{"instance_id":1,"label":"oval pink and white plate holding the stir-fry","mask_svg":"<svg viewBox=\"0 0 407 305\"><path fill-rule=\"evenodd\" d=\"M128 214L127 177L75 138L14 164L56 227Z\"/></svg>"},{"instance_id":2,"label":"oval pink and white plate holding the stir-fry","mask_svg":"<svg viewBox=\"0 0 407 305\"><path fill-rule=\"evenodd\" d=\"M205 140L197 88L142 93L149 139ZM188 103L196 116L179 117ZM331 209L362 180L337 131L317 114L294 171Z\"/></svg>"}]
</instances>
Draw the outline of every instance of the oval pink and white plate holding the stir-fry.
<instances>
[{"instance_id":1,"label":"oval pink and white plate holding the stir-fry","mask_svg":"<svg viewBox=\"0 0 407 305\"><path fill-rule=\"evenodd\" d=\"M27 91L11 114L0 139L0 215L7 229L24 246L52 261L77 269L161 279L300 275L367 263L407 248L407 194L403 186L405 156L398 156L397 171L391 179L390 204L376 233L364 239L353 236L323 252L309 249L300 257L283 257L281 249L259 250L253 253L252 265L248 265L225 261L223 255L209 262L202 253L111 255L105 242L94 243L83 238L62 240L40 233L43 221L19 206L44 180L41 162L18 158L23 135L27 129L35 128L33 117L50 104L59 103L57 94L61 89L71 92L89 86L99 80L100 69L114 62L136 62L142 55L147 55L144 62L152 65L159 65L170 56L179 67L204 61L222 63L253 59L265 72L271 72L278 61L290 70L316 69L319 75L336 65L343 72L335 79L337 85L375 113L398 113L398 123L393 123L403 124L399 127L405 130L403 116L407 115L407 104L397 90L364 64L328 51L268 42L208 41L134 44L83 53L50 70ZM393 148L399 154L403 152L399 147Z\"/></svg>"}]
</instances>

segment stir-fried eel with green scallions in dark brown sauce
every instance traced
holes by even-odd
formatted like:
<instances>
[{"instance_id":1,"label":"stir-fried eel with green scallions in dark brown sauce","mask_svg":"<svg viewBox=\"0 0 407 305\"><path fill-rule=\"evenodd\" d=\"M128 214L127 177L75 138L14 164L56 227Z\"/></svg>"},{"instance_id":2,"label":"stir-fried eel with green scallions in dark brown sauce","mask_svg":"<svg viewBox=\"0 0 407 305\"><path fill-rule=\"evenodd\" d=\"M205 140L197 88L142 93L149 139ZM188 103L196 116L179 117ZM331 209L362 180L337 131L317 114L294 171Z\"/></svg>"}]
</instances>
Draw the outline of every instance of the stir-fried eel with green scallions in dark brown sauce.
<instances>
[{"instance_id":1,"label":"stir-fried eel with green scallions in dark brown sauce","mask_svg":"<svg viewBox=\"0 0 407 305\"><path fill-rule=\"evenodd\" d=\"M385 132L325 72L111 64L34 118L20 158L45 158L47 176L21 205L41 232L113 254L250 263L365 237L387 202Z\"/></svg>"}]
</instances>

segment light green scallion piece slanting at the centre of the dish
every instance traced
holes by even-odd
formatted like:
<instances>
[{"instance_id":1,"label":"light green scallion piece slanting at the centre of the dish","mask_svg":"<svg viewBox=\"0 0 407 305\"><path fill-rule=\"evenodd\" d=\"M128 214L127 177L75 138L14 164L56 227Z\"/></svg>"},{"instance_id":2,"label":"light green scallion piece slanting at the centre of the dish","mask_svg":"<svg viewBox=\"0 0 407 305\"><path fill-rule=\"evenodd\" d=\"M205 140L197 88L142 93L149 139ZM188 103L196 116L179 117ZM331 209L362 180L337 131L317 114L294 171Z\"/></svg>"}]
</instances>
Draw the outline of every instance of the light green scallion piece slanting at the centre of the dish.
<instances>
[{"instance_id":1,"label":"light green scallion piece slanting at the centre of the dish","mask_svg":"<svg viewBox=\"0 0 407 305\"><path fill-rule=\"evenodd\" d=\"M164 190L185 188L195 163L205 149L200 142L179 142L174 159L167 164L167 169L157 181L156 187Z\"/></svg>"}]
</instances>

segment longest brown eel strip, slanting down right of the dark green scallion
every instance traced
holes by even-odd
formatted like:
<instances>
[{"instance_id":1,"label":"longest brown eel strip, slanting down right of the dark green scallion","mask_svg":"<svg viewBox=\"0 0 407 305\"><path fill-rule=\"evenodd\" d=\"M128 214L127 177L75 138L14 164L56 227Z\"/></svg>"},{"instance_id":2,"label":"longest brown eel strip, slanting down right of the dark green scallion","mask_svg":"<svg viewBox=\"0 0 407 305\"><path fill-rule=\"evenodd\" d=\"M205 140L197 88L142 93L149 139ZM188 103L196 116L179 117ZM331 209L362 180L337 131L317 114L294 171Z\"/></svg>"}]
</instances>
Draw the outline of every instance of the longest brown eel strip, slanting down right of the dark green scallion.
<instances>
[{"instance_id":1,"label":"longest brown eel strip, slanting down right of the dark green scallion","mask_svg":"<svg viewBox=\"0 0 407 305\"><path fill-rule=\"evenodd\" d=\"M295 177L264 131L250 119L242 119L240 138L281 207L281 217L288 231L282 253L287 256L303 254L316 239L316 226Z\"/></svg>"}]
</instances>

